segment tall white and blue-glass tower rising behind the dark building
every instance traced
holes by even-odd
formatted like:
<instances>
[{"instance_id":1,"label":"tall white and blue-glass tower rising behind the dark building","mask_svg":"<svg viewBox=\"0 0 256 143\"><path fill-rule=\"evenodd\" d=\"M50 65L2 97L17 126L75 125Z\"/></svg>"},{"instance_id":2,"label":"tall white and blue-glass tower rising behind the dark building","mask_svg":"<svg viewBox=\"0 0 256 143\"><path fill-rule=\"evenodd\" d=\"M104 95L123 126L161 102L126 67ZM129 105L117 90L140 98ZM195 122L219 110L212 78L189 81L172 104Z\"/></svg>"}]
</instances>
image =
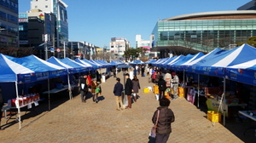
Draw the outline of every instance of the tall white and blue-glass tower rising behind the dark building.
<instances>
[{"instance_id":1,"label":"tall white and blue-glass tower rising behind the dark building","mask_svg":"<svg viewBox=\"0 0 256 143\"><path fill-rule=\"evenodd\" d=\"M63 47L63 41L68 41L67 4L61 0L32 0L31 9L40 9L56 16L57 48Z\"/></svg>"}]
</instances>

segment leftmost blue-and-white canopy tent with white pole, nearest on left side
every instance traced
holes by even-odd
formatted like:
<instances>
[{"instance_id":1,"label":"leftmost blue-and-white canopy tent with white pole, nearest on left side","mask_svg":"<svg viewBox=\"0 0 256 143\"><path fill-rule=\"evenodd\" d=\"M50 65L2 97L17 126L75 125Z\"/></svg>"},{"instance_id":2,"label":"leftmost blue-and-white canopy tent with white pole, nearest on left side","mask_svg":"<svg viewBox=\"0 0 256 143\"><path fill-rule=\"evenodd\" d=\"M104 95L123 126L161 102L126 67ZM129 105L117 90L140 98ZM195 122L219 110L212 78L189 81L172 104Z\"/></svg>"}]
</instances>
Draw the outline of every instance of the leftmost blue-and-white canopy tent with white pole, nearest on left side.
<instances>
[{"instance_id":1,"label":"leftmost blue-and-white canopy tent with white pole, nearest on left side","mask_svg":"<svg viewBox=\"0 0 256 143\"><path fill-rule=\"evenodd\" d=\"M0 83L15 83L15 97L16 99L19 98L18 93L18 82L23 81L23 77L32 76L35 74L32 70L26 68L25 66L21 66L20 64L15 63L12 60L9 60L6 55L0 54ZM20 79L21 78L21 79ZM10 89L10 88L8 88ZM3 95L5 95L5 90L3 91ZM12 92L9 90L6 93ZM12 97L9 97L12 99ZM5 99L9 100L9 98ZM17 106L18 109L18 117L19 117L19 129L21 129L21 122L20 122L20 106ZM2 116L2 115L1 115Z\"/></svg>"}]
</instances>

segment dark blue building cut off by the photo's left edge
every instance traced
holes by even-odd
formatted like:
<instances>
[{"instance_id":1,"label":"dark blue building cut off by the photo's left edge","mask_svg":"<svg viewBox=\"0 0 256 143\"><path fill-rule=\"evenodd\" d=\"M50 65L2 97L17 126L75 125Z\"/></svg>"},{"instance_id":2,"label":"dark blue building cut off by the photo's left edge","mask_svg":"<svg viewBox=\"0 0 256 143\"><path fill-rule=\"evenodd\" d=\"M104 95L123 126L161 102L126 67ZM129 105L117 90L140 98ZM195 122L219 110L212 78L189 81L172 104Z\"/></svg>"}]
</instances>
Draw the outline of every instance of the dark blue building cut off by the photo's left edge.
<instances>
[{"instance_id":1,"label":"dark blue building cut off by the photo's left edge","mask_svg":"<svg viewBox=\"0 0 256 143\"><path fill-rule=\"evenodd\" d=\"M19 46L18 13L18 0L0 1L0 48Z\"/></svg>"}]
</instances>

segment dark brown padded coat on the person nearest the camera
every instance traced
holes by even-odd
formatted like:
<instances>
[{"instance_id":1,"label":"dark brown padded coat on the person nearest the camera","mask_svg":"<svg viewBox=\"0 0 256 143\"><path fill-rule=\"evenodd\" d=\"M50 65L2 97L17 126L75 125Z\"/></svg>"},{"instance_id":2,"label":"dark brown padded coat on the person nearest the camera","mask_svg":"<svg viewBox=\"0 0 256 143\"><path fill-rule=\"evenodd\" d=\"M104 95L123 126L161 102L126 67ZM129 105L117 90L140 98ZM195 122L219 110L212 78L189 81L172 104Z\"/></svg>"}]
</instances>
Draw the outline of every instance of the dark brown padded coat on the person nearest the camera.
<instances>
[{"instance_id":1,"label":"dark brown padded coat on the person nearest the camera","mask_svg":"<svg viewBox=\"0 0 256 143\"><path fill-rule=\"evenodd\" d=\"M171 134L171 123L175 121L174 113L167 106L160 106L154 112L154 116L152 117L153 123L156 122L158 110L160 110L160 115L157 123L156 134Z\"/></svg>"}]
</instances>

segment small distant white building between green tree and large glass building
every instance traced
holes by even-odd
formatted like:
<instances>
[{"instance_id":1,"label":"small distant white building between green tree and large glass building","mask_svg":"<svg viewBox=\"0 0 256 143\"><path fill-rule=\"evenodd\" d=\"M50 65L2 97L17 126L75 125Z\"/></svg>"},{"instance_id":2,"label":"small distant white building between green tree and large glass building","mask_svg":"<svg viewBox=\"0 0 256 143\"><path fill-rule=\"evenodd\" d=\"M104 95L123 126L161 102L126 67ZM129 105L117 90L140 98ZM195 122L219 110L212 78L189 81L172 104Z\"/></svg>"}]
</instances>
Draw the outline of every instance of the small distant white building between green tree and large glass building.
<instances>
[{"instance_id":1,"label":"small distant white building between green tree and large glass building","mask_svg":"<svg viewBox=\"0 0 256 143\"><path fill-rule=\"evenodd\" d=\"M136 39L136 48L143 48L146 50L145 56L148 56L149 58L157 56L157 52L150 51L150 48L151 48L150 40L143 40L141 35L136 35L135 39Z\"/></svg>"}]
</instances>

